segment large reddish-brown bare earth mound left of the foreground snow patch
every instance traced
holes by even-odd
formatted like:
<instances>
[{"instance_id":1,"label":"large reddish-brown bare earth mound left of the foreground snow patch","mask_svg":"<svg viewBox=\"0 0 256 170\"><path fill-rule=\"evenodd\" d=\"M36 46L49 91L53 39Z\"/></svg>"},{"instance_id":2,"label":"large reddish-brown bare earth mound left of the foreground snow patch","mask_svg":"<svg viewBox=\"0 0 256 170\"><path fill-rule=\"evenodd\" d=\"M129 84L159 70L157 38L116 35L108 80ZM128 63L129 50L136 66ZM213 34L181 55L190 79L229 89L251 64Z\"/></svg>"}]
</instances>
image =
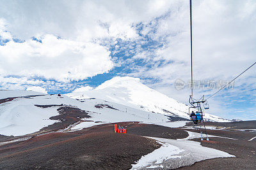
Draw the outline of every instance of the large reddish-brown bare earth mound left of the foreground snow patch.
<instances>
[{"instance_id":1,"label":"large reddish-brown bare earth mound left of the foreground snow patch","mask_svg":"<svg viewBox=\"0 0 256 170\"><path fill-rule=\"evenodd\" d=\"M52 133L0 146L0 169L130 169L142 155L159 148L153 139L143 138L135 129L154 131L155 136L177 136L180 129L121 122L128 134L114 132L114 124L97 125L81 131ZM130 129L130 130L129 130ZM134 131L135 134L132 134ZM140 134L148 134L141 131ZM182 133L184 138L187 132ZM181 138L182 136L180 136Z\"/></svg>"}]
</instances>

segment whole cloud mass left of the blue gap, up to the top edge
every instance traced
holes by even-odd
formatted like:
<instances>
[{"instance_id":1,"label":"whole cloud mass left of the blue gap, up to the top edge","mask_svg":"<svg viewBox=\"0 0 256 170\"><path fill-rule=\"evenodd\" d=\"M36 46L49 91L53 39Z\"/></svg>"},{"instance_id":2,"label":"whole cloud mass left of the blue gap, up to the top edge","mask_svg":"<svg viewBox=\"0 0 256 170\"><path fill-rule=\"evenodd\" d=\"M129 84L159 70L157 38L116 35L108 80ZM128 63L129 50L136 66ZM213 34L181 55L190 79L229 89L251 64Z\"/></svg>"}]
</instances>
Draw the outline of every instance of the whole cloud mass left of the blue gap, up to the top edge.
<instances>
[{"instance_id":1,"label":"whole cloud mass left of the blue gap, up to the top edge","mask_svg":"<svg viewBox=\"0 0 256 170\"><path fill-rule=\"evenodd\" d=\"M67 82L108 73L114 64L103 41L112 44L115 39L138 38L134 24L163 15L170 4L156 0L1 1L0 40L8 42L0 46L0 74Z\"/></svg>"}]
</instances>

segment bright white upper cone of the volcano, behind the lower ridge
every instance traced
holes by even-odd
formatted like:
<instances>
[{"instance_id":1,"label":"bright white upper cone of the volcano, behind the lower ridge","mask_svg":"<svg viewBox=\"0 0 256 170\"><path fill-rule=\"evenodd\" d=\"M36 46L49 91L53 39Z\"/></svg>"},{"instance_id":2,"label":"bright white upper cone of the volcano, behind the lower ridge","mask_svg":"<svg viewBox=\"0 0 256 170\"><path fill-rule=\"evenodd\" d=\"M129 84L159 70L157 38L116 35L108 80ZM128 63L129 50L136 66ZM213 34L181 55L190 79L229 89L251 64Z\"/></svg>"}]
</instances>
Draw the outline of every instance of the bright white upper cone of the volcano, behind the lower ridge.
<instances>
[{"instance_id":1,"label":"bright white upper cone of the volcano, behind the lower ridge","mask_svg":"<svg viewBox=\"0 0 256 170\"><path fill-rule=\"evenodd\" d=\"M72 92L66 95L74 99L95 97L97 99L124 104L125 106L130 106L138 110L189 118L189 106L161 94L156 90L150 89L146 85L143 85L139 78L118 76L105 81L102 85L99 85L99 87L93 90ZM204 118L214 122L230 121L208 113L205 113Z\"/></svg>"}]
</instances>

